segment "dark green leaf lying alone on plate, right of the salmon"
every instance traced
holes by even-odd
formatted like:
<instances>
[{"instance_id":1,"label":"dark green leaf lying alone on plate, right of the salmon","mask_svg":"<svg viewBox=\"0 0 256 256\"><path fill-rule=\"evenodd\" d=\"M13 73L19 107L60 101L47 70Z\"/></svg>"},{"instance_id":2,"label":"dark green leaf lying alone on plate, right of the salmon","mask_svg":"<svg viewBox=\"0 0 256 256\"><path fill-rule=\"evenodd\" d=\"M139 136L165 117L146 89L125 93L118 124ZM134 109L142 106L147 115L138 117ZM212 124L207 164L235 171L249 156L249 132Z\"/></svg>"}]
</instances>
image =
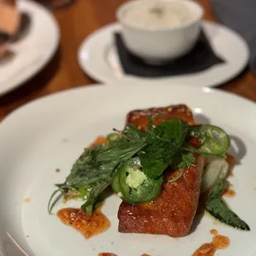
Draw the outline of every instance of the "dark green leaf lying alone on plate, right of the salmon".
<instances>
[{"instance_id":1,"label":"dark green leaf lying alone on plate, right of the salmon","mask_svg":"<svg viewBox=\"0 0 256 256\"><path fill-rule=\"evenodd\" d=\"M222 200L221 194L223 189L224 181L219 178L206 201L206 211L226 225L230 225L239 230L250 230L249 225L247 225L244 220L241 220L234 211L231 211L228 206L226 206L225 201Z\"/></svg>"}]
</instances>

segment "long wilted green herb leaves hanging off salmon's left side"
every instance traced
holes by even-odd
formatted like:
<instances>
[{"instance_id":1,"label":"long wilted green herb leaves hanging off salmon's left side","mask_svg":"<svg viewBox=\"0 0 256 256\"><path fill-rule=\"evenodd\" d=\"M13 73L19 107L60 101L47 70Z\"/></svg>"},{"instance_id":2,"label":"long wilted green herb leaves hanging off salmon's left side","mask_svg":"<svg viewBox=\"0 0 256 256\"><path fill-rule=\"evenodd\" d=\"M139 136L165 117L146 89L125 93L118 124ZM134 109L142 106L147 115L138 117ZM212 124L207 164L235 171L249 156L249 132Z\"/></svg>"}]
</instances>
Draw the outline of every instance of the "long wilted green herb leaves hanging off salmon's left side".
<instances>
[{"instance_id":1,"label":"long wilted green herb leaves hanging off salmon's left side","mask_svg":"<svg viewBox=\"0 0 256 256\"><path fill-rule=\"evenodd\" d=\"M85 200L82 210L91 215L93 204L99 194L111 185L119 164L130 159L144 146L145 144L133 143L120 137L108 145L96 145L92 149L84 149L83 154L73 164L65 183L58 185L59 191L63 196L69 197L70 188L75 190L76 197ZM55 194L56 192L53 196ZM50 202L53 198L50 198ZM52 206L49 205L49 209L51 208Z\"/></svg>"}]
</instances>

